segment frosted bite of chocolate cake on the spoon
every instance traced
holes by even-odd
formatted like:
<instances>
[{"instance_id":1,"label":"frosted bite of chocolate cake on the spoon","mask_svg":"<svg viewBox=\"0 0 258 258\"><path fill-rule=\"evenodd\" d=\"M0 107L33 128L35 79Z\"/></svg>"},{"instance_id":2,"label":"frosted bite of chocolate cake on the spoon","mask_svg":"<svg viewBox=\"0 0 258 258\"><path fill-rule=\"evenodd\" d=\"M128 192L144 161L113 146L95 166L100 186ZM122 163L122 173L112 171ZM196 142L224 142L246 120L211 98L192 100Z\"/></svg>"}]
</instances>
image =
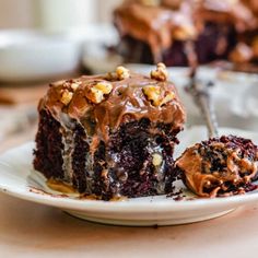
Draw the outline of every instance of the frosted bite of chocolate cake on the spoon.
<instances>
[{"instance_id":1,"label":"frosted bite of chocolate cake on the spoon","mask_svg":"<svg viewBox=\"0 0 258 258\"><path fill-rule=\"evenodd\" d=\"M185 184L201 197L254 190L258 176L258 148L250 140L228 136L188 148L176 161Z\"/></svg>"}]
</instances>

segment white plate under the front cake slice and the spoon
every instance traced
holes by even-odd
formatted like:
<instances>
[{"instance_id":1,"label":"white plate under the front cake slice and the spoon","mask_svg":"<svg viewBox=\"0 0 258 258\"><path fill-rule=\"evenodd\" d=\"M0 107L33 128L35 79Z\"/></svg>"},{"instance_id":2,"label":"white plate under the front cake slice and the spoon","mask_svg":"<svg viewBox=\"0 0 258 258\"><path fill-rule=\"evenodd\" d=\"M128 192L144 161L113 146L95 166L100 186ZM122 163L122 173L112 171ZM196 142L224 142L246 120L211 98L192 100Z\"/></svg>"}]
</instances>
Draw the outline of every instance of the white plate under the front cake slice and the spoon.
<instances>
[{"instance_id":1,"label":"white plate under the front cake slice and the spoon","mask_svg":"<svg viewBox=\"0 0 258 258\"><path fill-rule=\"evenodd\" d=\"M237 129L221 129L221 133L250 138L258 143L258 133ZM206 128L194 127L180 136L176 156L189 144L206 139ZM0 157L0 190L4 194L62 209L75 216L117 225L173 225L203 221L258 201L258 191L242 196L175 201L166 196L127 199L124 201L80 200L62 197L45 185L45 178L33 169L34 143L17 146ZM35 191L39 189L39 191ZM44 191L46 194L44 194ZM187 194L189 196L189 194ZM192 195L190 195L192 196Z\"/></svg>"}]
</instances>

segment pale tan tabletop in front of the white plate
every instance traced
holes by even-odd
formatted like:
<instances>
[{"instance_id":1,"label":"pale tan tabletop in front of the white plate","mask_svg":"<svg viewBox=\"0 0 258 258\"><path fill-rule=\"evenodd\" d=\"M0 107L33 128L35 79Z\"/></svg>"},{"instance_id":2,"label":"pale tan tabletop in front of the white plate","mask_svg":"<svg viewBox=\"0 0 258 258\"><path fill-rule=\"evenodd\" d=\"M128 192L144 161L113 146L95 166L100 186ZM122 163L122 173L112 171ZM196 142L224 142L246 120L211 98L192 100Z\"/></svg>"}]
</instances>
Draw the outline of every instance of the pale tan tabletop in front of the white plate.
<instances>
[{"instance_id":1,"label":"pale tan tabletop in front of the white plate","mask_svg":"<svg viewBox=\"0 0 258 258\"><path fill-rule=\"evenodd\" d=\"M0 195L0 256L257 257L258 204L223 218L165 227L106 226Z\"/></svg>"}]
</instances>

